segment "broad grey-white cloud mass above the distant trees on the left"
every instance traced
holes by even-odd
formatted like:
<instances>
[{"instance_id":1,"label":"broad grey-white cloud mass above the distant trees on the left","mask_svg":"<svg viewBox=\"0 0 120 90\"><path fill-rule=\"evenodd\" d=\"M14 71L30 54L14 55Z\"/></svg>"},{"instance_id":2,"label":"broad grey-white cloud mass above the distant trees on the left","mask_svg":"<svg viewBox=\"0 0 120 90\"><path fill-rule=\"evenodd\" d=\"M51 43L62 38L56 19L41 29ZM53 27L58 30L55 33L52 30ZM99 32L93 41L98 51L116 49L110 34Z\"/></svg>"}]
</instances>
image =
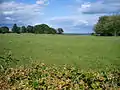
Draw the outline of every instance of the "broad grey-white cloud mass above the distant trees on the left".
<instances>
[{"instance_id":1,"label":"broad grey-white cloud mass above the distant trees on the left","mask_svg":"<svg viewBox=\"0 0 120 90\"><path fill-rule=\"evenodd\" d=\"M13 1L0 3L0 24L33 25L38 21L42 21L44 7L38 4L25 4Z\"/></svg>"}]
</instances>

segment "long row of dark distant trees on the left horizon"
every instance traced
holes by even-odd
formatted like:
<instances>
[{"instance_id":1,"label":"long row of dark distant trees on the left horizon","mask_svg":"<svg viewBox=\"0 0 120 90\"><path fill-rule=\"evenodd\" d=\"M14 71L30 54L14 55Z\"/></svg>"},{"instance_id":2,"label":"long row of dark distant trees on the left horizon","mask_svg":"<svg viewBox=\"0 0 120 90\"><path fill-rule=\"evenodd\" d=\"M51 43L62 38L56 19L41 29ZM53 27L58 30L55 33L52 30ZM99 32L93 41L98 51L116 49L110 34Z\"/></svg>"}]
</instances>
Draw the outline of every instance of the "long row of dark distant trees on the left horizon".
<instances>
[{"instance_id":1,"label":"long row of dark distant trees on the left horizon","mask_svg":"<svg viewBox=\"0 0 120 90\"><path fill-rule=\"evenodd\" d=\"M0 27L0 33L35 33L35 34L63 34L63 29L58 28L54 29L52 27L49 27L46 24L40 24L40 25L35 25L31 26L28 25L27 27L22 26L19 27L17 24L14 24L11 31L7 26Z\"/></svg>"}]
</instances>

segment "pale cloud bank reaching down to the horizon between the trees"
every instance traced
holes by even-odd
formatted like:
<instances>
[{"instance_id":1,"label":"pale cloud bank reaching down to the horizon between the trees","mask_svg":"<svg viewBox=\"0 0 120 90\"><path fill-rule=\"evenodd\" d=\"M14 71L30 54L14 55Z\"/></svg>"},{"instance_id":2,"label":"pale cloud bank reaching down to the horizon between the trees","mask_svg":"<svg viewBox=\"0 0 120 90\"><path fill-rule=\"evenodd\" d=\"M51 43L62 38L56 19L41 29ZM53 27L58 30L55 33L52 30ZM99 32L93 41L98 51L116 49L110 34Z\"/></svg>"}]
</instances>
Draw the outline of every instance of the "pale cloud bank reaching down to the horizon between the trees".
<instances>
[{"instance_id":1,"label":"pale cloud bank reaching down to the horizon between the trees","mask_svg":"<svg viewBox=\"0 0 120 90\"><path fill-rule=\"evenodd\" d=\"M93 25L97 22L99 15L72 15L63 17L53 17L49 24L53 27L62 27L65 32L86 32L92 31ZM89 29L88 29L89 28Z\"/></svg>"}]
</instances>

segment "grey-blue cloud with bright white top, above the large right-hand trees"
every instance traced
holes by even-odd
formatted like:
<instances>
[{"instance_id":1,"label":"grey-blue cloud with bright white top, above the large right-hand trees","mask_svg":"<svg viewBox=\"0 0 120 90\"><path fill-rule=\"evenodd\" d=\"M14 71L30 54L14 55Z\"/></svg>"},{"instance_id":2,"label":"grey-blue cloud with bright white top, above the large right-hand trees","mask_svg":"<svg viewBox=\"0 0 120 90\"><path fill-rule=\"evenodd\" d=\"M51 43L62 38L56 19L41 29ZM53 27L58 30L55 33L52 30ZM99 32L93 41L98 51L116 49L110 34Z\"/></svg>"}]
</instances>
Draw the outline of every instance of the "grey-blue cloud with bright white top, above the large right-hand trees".
<instances>
[{"instance_id":1,"label":"grey-blue cloud with bright white top, above the large right-hand trees","mask_svg":"<svg viewBox=\"0 0 120 90\"><path fill-rule=\"evenodd\" d=\"M119 13L120 12L120 0L105 0L96 2L84 2L78 7L79 12L85 14L97 14L97 13Z\"/></svg>"}]
</instances>

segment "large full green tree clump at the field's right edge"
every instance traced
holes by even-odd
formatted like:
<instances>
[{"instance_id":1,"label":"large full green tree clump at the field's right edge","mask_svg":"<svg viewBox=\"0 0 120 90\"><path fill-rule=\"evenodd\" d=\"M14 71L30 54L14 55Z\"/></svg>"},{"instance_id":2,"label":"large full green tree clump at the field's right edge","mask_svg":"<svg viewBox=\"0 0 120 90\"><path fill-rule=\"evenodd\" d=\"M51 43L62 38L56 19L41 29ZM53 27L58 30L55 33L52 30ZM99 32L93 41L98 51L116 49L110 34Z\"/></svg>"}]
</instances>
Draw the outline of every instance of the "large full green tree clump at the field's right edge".
<instances>
[{"instance_id":1,"label":"large full green tree clump at the field's right edge","mask_svg":"<svg viewBox=\"0 0 120 90\"><path fill-rule=\"evenodd\" d=\"M100 17L94 32L100 36L120 36L120 15Z\"/></svg>"}]
</instances>

